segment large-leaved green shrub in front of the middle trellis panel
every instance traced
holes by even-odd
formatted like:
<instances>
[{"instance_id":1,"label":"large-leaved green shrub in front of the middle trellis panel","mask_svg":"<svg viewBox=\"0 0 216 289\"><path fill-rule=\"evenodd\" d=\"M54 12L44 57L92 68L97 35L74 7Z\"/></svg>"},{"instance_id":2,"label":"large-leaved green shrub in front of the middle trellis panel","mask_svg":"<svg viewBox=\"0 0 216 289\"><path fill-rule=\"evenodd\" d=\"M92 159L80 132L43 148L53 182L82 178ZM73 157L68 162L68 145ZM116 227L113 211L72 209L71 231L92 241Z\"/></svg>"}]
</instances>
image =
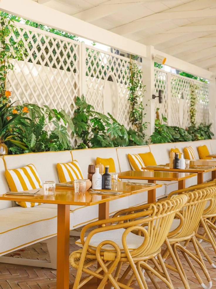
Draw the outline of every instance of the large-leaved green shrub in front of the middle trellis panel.
<instances>
[{"instance_id":1,"label":"large-leaved green shrub in front of the middle trellis panel","mask_svg":"<svg viewBox=\"0 0 216 289\"><path fill-rule=\"evenodd\" d=\"M141 133L121 125L111 114L104 115L94 110L85 97L78 97L75 116L72 119L75 135L81 139L77 148L98 148L144 144Z\"/></svg>"}]
</instances>

